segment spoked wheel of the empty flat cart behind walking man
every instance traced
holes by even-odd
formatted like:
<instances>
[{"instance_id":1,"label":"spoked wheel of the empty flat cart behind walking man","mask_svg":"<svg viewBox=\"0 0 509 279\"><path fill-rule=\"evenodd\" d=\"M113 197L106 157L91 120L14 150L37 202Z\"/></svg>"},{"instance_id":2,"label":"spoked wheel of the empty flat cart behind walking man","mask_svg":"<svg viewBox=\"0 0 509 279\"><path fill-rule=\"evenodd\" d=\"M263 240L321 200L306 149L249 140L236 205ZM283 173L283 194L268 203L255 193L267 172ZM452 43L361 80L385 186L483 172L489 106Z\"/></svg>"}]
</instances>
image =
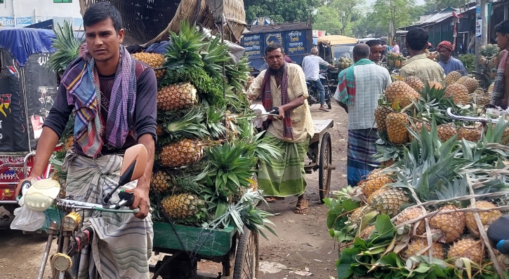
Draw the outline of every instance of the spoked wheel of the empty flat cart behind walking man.
<instances>
[{"instance_id":1,"label":"spoked wheel of the empty flat cart behind walking man","mask_svg":"<svg viewBox=\"0 0 509 279\"><path fill-rule=\"evenodd\" d=\"M324 203L324 198L329 197L329 191L331 191L331 163L331 135L329 132L326 132L322 137L322 144L320 146L320 162L318 172L318 188L321 203Z\"/></svg>"}]
</instances>

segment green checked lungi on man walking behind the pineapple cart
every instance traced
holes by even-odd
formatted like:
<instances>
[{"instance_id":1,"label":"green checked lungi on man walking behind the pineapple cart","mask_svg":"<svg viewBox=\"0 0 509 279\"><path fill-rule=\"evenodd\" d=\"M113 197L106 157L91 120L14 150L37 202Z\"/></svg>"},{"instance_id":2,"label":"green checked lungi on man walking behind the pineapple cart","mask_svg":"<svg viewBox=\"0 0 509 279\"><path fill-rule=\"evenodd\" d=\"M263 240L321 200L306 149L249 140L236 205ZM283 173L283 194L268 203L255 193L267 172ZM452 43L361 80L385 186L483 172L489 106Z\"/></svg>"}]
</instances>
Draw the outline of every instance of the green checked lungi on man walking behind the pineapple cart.
<instances>
[{"instance_id":1,"label":"green checked lungi on man walking behind the pineapple cart","mask_svg":"<svg viewBox=\"0 0 509 279\"><path fill-rule=\"evenodd\" d=\"M281 160L262 163L258 170L258 186L264 196L300 196L306 187L304 157L308 151L310 138L304 142L284 142L270 132L265 132L262 140L272 144L282 155Z\"/></svg>"}]
</instances>

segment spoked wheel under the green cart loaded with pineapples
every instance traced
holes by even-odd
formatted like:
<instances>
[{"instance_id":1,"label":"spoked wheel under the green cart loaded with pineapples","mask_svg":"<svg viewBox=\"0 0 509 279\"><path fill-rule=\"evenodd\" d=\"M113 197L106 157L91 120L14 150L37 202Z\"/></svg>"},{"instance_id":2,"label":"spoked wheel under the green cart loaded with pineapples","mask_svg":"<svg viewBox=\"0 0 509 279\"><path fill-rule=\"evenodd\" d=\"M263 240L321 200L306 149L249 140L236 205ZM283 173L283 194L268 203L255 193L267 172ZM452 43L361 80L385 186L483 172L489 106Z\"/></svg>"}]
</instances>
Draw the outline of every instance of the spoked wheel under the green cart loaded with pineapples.
<instances>
[{"instance_id":1,"label":"spoked wheel under the green cart loaded with pineapples","mask_svg":"<svg viewBox=\"0 0 509 279\"><path fill-rule=\"evenodd\" d=\"M233 279L253 279L258 275L258 233L244 227L235 253Z\"/></svg>"}]
</instances>

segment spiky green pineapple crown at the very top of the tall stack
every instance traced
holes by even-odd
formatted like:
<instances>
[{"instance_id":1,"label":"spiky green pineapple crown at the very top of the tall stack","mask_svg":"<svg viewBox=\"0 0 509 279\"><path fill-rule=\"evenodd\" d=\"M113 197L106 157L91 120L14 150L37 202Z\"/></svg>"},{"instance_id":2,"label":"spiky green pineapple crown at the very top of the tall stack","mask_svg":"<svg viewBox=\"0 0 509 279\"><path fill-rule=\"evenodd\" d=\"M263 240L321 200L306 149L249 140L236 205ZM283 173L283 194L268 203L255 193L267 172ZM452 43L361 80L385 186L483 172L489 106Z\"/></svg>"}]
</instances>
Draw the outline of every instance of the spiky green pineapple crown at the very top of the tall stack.
<instances>
[{"instance_id":1,"label":"spiky green pineapple crown at the very top of the tall stack","mask_svg":"<svg viewBox=\"0 0 509 279\"><path fill-rule=\"evenodd\" d=\"M170 39L171 43L164 53L166 67L204 66L198 50L204 46L205 35L197 30L196 25L183 20L179 33L170 32Z\"/></svg>"}]
</instances>

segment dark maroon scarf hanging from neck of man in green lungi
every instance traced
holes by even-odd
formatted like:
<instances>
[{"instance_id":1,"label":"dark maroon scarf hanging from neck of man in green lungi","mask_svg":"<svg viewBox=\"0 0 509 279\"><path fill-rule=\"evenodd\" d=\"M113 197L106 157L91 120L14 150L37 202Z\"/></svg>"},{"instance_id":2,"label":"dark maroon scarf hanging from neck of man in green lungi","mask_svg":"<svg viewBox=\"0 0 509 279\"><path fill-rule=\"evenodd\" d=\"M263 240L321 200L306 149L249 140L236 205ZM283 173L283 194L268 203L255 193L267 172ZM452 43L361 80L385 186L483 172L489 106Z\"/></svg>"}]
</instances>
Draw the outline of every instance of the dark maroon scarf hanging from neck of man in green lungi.
<instances>
[{"instance_id":1,"label":"dark maroon scarf hanging from neck of man in green lungi","mask_svg":"<svg viewBox=\"0 0 509 279\"><path fill-rule=\"evenodd\" d=\"M284 72L281 78L281 104L288 104L290 99L288 97L288 68L286 67L286 62L284 63ZM272 109L272 93L270 90L270 73L269 71L265 71L265 76L263 76L262 82L262 104L266 111L270 111ZM263 121L263 130L267 130L269 128L270 123L272 123L273 117L268 116L266 121ZM290 112L284 111L284 120L283 120L283 137L286 139L295 140L295 135L293 135L293 127L291 125Z\"/></svg>"}]
</instances>

